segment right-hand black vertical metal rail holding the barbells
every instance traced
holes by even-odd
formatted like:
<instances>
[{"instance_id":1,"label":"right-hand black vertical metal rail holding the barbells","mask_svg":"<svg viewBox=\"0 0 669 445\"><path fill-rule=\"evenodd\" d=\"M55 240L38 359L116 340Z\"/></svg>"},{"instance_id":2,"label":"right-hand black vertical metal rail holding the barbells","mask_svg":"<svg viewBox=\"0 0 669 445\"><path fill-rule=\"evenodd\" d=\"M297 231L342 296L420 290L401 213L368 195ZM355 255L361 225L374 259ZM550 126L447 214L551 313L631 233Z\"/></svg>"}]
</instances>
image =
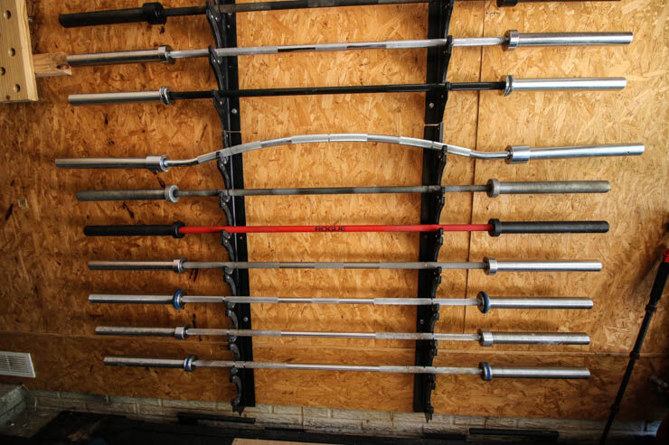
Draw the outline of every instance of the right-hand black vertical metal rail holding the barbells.
<instances>
[{"instance_id":1,"label":"right-hand black vertical metal rail holding the barbells","mask_svg":"<svg viewBox=\"0 0 669 445\"><path fill-rule=\"evenodd\" d=\"M428 38L448 39L443 47L428 49L427 82L445 82L448 62L453 49L448 37L448 25L455 0L438 0L429 4ZM448 100L448 91L428 92L425 95L425 128L423 137L441 142L444 134L444 109ZM423 149L423 185L440 185L441 176L446 167L446 153ZM423 193L420 200L420 224L438 224L441 209L444 207L443 193ZM421 233L419 238L419 261L437 261L439 248L443 244L443 230ZM419 271L418 297L435 298L441 269ZM439 318L439 306L419 306L416 309L416 331L434 333L434 326ZM436 340L416 341L416 366L432 366L437 355ZM432 418L434 407L430 399L436 387L436 375L416 374L413 380L413 411L425 413L426 421Z\"/></svg>"}]
</instances>

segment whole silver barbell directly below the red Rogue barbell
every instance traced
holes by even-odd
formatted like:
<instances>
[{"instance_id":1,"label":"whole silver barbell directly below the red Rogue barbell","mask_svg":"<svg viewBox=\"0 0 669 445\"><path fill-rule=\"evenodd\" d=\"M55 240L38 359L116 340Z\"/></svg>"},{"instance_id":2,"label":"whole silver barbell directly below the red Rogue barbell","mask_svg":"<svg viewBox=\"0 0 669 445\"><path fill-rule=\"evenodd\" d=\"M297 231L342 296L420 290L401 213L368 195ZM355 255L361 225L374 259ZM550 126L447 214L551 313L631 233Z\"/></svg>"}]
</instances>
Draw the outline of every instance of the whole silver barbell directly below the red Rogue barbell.
<instances>
[{"instance_id":1,"label":"whole silver barbell directly below the red Rogue barbell","mask_svg":"<svg viewBox=\"0 0 669 445\"><path fill-rule=\"evenodd\" d=\"M498 272L596 272L598 261L502 261L485 257L483 262L189 262L183 258L173 261L90 261L93 271L174 271L192 269L403 269L426 270L484 270L489 275Z\"/></svg>"}]
</instances>

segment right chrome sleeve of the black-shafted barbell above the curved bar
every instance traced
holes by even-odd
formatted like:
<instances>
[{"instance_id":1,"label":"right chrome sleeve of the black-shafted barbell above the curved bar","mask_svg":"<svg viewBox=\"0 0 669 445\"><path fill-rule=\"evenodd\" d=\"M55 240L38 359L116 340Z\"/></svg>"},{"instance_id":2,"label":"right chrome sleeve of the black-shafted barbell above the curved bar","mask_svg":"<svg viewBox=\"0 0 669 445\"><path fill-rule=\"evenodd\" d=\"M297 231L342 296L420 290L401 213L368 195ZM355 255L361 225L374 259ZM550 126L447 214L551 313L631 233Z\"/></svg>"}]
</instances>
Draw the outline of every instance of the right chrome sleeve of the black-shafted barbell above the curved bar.
<instances>
[{"instance_id":1,"label":"right chrome sleeve of the black-shafted barbell above the curved bar","mask_svg":"<svg viewBox=\"0 0 669 445\"><path fill-rule=\"evenodd\" d=\"M602 91L623 89L627 86L625 78L515 79L508 75L503 81L504 96L509 96L514 91Z\"/></svg>"}]
</instances>

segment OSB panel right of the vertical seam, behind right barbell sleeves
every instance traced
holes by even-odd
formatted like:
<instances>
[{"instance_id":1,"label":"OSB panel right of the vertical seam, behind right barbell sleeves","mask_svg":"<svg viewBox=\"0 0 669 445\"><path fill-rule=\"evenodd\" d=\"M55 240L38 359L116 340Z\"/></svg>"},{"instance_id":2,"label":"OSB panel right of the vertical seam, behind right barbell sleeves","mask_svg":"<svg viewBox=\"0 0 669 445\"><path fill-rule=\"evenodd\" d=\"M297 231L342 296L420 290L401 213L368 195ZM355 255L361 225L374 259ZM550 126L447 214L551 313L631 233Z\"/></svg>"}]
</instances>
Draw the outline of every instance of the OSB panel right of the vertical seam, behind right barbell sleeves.
<instances>
[{"instance_id":1,"label":"OSB panel right of the vertical seam, behind right barbell sleeves","mask_svg":"<svg viewBox=\"0 0 669 445\"><path fill-rule=\"evenodd\" d=\"M469 290L588 295L595 301L595 309L538 316L499 311L493 317L481 317L469 310L467 325L512 329L519 324L526 327L532 320L534 326L543 329L589 332L590 351L625 352L636 337L641 315L638 309L647 301L645 292L634 291L655 262L669 209L669 199L661 185L666 185L668 166L666 94L661 92L667 79L661 60L667 55L667 48L666 39L660 37L667 7L650 1L573 6L565 10L554 5L532 5L526 12L515 9L486 14L489 19L485 21L485 33L498 35L514 26L552 32L628 30L635 32L634 42L627 48L528 50L504 53L504 57L500 57L500 52L484 51L483 77L625 76L627 88L616 93L546 92L522 98L482 95L478 146L495 150L500 142L542 146L639 141L646 144L646 153L641 157L535 162L522 167L477 163L479 180L490 174L503 181L606 179L611 181L611 191L604 196L529 199L506 196L492 200L477 196L474 219L492 213L507 219L608 219L611 230L603 236L517 236L498 240L477 234L473 236L472 255L596 258L604 264L604 271L571 273L567 279L558 273L499 277L472 273ZM613 16L617 19L611 20ZM666 318L661 309L655 319L655 334L645 343L646 352L666 352L663 326Z\"/></svg>"}]
</instances>

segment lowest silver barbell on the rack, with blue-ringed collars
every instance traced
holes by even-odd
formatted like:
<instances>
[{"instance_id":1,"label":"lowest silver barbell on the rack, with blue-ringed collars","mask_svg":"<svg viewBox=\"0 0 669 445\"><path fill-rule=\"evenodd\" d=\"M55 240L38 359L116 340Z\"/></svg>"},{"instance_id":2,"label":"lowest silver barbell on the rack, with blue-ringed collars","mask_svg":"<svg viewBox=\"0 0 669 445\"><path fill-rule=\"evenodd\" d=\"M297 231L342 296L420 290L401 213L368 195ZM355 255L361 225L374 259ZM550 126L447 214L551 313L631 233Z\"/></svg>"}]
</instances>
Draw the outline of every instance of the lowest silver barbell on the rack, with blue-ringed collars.
<instances>
[{"instance_id":1,"label":"lowest silver barbell on the rack, with blue-ringed collars","mask_svg":"<svg viewBox=\"0 0 669 445\"><path fill-rule=\"evenodd\" d=\"M584 379L590 373L584 367L496 367L487 362L478 367L464 366L361 366L361 365L320 365L303 363L243 362L232 360L202 360L190 355L184 359L145 358L145 357L105 357L106 366L139 366L181 368L192 372L198 367L236 367L239 369L285 369L315 371L353 371L394 374L442 374L442 375L479 375L485 381L498 378L564 378Z\"/></svg>"}]
</instances>

